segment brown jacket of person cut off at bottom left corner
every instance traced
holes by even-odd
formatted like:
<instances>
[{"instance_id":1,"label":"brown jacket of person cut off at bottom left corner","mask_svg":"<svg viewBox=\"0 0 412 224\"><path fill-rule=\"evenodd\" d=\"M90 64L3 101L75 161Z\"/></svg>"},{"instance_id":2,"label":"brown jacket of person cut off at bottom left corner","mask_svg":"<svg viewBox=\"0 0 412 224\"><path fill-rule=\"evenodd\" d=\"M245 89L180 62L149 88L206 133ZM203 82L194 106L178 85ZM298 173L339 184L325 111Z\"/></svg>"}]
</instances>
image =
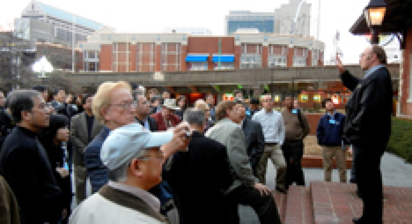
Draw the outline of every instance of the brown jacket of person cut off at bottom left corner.
<instances>
[{"instance_id":1,"label":"brown jacket of person cut off at bottom left corner","mask_svg":"<svg viewBox=\"0 0 412 224\"><path fill-rule=\"evenodd\" d=\"M19 206L12 189L0 176L0 223L20 224Z\"/></svg>"}]
</instances>

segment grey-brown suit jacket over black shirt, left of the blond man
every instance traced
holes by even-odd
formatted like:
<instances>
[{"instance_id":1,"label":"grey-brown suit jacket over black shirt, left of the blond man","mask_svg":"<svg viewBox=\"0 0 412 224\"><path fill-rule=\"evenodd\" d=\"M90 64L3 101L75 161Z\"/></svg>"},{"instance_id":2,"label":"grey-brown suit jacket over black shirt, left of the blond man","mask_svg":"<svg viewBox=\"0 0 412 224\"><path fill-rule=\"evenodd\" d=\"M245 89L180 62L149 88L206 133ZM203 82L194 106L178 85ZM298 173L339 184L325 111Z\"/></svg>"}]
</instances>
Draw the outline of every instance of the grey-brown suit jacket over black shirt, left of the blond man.
<instances>
[{"instance_id":1,"label":"grey-brown suit jacket over black shirt, left of the blond man","mask_svg":"<svg viewBox=\"0 0 412 224\"><path fill-rule=\"evenodd\" d=\"M71 119L70 123L70 141L73 145L73 164L84 166L84 151L86 146L101 132L103 125L95 119L91 136L87 129L86 112L79 113Z\"/></svg>"}]
</instances>

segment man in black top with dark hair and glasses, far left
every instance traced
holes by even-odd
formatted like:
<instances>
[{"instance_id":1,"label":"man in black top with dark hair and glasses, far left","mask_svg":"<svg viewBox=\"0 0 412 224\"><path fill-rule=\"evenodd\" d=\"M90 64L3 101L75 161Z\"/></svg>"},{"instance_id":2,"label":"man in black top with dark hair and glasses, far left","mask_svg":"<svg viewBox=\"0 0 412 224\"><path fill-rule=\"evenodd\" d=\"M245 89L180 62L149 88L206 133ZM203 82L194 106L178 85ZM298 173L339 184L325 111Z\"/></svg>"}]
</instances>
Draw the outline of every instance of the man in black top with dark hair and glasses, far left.
<instances>
[{"instance_id":1,"label":"man in black top with dark hair and glasses, far left","mask_svg":"<svg viewBox=\"0 0 412 224\"><path fill-rule=\"evenodd\" d=\"M17 126L0 154L0 173L12 188L25 223L56 223L62 215L61 189L37 132L49 125L50 108L35 90L15 90L9 108Z\"/></svg>"}]
</instances>

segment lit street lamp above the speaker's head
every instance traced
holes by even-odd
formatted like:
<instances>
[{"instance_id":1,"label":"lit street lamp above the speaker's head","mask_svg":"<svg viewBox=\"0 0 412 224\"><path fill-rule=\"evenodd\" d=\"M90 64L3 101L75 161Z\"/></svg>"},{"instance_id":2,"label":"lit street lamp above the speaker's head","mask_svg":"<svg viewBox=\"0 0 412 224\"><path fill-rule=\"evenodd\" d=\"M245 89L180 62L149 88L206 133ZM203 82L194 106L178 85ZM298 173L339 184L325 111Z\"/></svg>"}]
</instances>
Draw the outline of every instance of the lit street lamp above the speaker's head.
<instances>
[{"instance_id":1,"label":"lit street lamp above the speaker's head","mask_svg":"<svg viewBox=\"0 0 412 224\"><path fill-rule=\"evenodd\" d=\"M363 16L372 31L372 44L379 43L378 28L382 26L386 12L386 2L384 0L371 0L363 12Z\"/></svg>"}]
</instances>

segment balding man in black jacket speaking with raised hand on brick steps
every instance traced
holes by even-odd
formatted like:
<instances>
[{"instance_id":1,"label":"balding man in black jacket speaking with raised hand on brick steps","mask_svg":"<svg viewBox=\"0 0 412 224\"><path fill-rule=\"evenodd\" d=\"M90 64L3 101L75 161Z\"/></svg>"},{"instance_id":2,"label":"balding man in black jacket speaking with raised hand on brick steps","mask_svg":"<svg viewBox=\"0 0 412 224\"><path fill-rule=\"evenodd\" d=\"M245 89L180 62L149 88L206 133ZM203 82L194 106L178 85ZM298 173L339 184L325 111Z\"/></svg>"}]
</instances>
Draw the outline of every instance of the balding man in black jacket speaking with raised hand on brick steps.
<instances>
[{"instance_id":1,"label":"balding man in black jacket speaking with raised hand on brick steps","mask_svg":"<svg viewBox=\"0 0 412 224\"><path fill-rule=\"evenodd\" d=\"M359 64L366 71L361 80L342 67L337 68L343 84L351 90L346 103L343 138L356 152L356 182L363 200L363 215L355 223L382 223L383 188L381 158L391 135L392 83L386 68L386 53L372 46L361 54Z\"/></svg>"}]
</instances>

